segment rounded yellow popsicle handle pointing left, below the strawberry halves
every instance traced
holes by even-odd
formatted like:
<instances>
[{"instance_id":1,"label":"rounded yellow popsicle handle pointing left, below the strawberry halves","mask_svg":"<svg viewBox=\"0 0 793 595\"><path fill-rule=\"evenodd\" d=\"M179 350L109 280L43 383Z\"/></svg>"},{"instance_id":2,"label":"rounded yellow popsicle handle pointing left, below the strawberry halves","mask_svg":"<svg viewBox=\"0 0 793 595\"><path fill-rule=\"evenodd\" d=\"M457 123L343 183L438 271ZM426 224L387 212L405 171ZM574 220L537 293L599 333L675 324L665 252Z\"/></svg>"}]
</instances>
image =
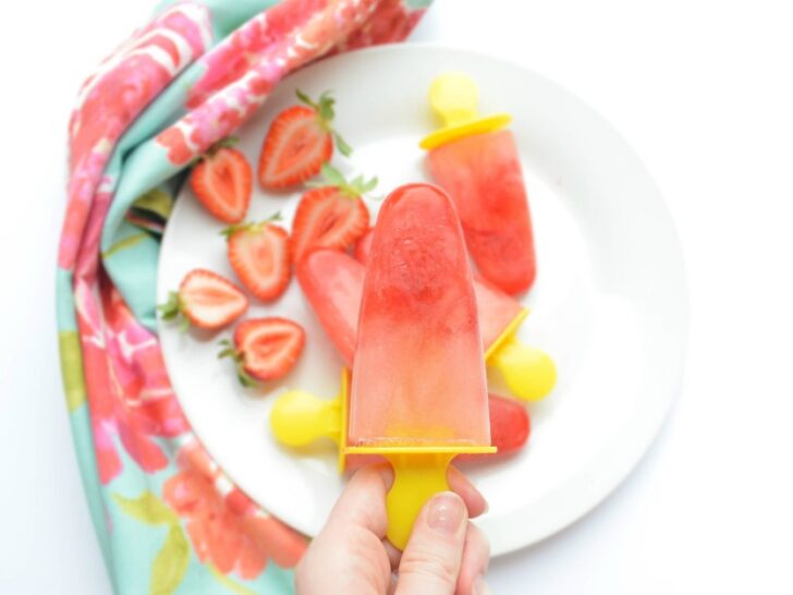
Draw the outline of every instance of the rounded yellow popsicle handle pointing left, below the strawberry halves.
<instances>
[{"instance_id":1,"label":"rounded yellow popsicle handle pointing left, below the strawberry halves","mask_svg":"<svg viewBox=\"0 0 793 595\"><path fill-rule=\"evenodd\" d=\"M327 401L304 390L281 394L270 411L276 439L289 447L303 447L319 438L339 444L342 432L341 397Z\"/></svg>"}]
</instances>

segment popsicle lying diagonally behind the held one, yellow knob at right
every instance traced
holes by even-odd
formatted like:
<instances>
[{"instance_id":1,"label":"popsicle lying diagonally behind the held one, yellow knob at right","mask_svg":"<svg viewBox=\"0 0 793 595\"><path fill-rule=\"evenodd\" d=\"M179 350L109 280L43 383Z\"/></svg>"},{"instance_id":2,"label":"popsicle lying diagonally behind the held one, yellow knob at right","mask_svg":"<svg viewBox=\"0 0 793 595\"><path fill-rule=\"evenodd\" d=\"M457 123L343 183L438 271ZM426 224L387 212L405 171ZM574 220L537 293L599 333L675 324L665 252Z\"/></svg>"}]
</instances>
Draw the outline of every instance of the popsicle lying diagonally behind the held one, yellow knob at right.
<instances>
[{"instance_id":1,"label":"popsicle lying diagonally behind the held one, yellow knob at right","mask_svg":"<svg viewBox=\"0 0 793 595\"><path fill-rule=\"evenodd\" d=\"M370 242L371 232L356 246L358 258L368 257ZM346 254L330 250L312 253L297 267L303 292L347 365L355 350L364 271L365 267ZM515 397L542 399L553 388L557 371L547 353L517 339L528 309L483 279L474 278L474 292L487 365L503 377Z\"/></svg>"}]
</instances>

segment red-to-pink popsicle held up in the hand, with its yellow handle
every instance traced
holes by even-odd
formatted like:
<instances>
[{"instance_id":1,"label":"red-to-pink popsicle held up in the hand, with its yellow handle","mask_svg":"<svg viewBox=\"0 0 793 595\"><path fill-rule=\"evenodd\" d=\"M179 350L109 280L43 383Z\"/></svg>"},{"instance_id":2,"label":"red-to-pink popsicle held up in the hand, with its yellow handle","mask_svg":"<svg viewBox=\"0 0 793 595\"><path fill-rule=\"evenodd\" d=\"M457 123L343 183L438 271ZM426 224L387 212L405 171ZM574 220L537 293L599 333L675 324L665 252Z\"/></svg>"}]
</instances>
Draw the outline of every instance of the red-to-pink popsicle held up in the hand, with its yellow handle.
<instances>
[{"instance_id":1,"label":"red-to-pink popsicle held up in the hand, with its yellow handle","mask_svg":"<svg viewBox=\"0 0 793 595\"><path fill-rule=\"evenodd\" d=\"M448 489L454 456L496 450L462 229L449 196L427 184L392 192L375 227L347 444L394 467L387 536L399 548L427 499Z\"/></svg>"}]
</instances>

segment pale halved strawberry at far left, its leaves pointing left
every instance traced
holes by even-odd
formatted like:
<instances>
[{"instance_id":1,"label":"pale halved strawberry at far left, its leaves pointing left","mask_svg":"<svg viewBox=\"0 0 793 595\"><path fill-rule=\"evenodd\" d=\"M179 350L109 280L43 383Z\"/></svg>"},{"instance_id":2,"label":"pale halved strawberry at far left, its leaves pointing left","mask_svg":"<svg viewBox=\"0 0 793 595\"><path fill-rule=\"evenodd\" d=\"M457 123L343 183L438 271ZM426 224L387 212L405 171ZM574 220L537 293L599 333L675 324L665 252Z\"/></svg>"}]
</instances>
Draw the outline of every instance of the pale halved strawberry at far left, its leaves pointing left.
<instances>
[{"instance_id":1,"label":"pale halved strawberry at far left, its leaves pointing left","mask_svg":"<svg viewBox=\"0 0 793 595\"><path fill-rule=\"evenodd\" d=\"M240 288L211 270L191 270L172 291L168 302L158 306L163 320L182 317L181 328L190 325L216 329L224 327L247 309L247 298Z\"/></svg>"}]
</instances>

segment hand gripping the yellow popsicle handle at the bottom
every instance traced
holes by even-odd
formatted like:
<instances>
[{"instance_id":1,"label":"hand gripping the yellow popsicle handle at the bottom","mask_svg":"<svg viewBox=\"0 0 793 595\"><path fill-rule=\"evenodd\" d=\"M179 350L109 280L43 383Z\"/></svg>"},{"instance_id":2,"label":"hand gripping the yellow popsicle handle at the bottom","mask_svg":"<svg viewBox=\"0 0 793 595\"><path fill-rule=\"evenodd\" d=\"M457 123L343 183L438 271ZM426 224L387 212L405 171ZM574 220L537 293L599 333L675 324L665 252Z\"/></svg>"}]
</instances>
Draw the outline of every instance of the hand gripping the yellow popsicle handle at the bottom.
<instances>
[{"instance_id":1,"label":"hand gripping the yellow popsicle handle at the bottom","mask_svg":"<svg viewBox=\"0 0 793 595\"><path fill-rule=\"evenodd\" d=\"M391 466L358 470L297 566L297 594L490 593L483 579L490 545L468 522L485 512L487 502L454 467L449 467L448 479L453 491L437 494L424 506L405 550L400 552L386 539Z\"/></svg>"}]
</instances>

